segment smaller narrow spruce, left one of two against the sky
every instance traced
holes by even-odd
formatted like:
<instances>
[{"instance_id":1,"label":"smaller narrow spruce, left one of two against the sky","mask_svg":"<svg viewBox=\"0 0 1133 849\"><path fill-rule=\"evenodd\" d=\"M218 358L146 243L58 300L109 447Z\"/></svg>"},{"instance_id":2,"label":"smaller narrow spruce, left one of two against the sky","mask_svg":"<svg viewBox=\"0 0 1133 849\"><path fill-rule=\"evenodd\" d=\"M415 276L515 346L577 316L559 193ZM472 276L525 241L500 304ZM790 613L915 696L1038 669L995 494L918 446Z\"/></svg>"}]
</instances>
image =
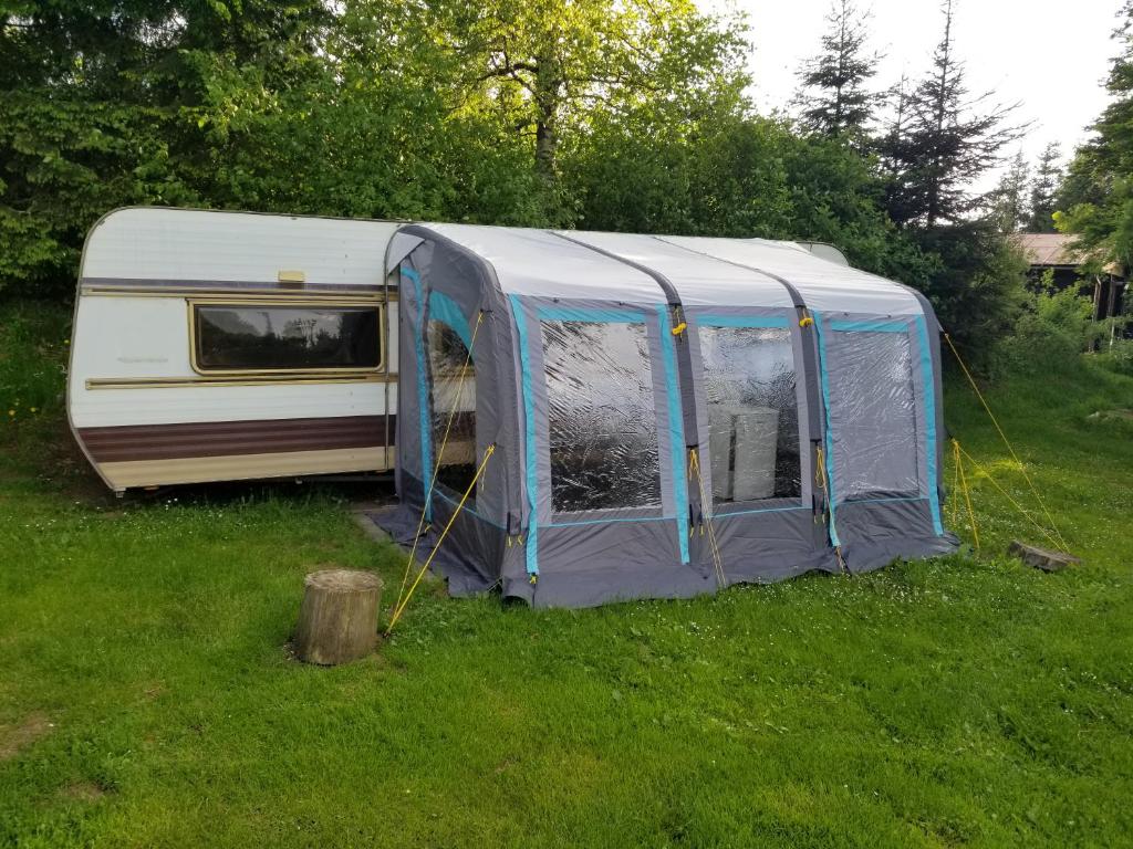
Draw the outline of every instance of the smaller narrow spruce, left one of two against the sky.
<instances>
[{"instance_id":1,"label":"smaller narrow spruce, left one of two against the sky","mask_svg":"<svg viewBox=\"0 0 1133 849\"><path fill-rule=\"evenodd\" d=\"M868 20L853 0L834 0L821 52L808 59L798 75L802 127L859 148L868 140L867 127L879 101L868 87L878 61L876 53L866 51Z\"/></svg>"}]
</instances>

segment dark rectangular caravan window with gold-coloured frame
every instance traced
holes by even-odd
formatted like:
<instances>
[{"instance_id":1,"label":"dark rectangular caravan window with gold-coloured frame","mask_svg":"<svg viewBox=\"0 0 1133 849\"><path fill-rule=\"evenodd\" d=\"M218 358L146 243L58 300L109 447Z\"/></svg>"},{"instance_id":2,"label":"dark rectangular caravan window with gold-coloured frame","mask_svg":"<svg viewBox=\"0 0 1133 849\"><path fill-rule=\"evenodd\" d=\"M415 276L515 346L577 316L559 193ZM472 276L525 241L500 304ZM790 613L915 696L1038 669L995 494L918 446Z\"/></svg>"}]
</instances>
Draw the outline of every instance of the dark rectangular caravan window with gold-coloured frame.
<instances>
[{"instance_id":1,"label":"dark rectangular caravan window with gold-coloured frame","mask_svg":"<svg viewBox=\"0 0 1133 849\"><path fill-rule=\"evenodd\" d=\"M198 371L375 370L381 310L323 305L193 306Z\"/></svg>"}]
</instances>

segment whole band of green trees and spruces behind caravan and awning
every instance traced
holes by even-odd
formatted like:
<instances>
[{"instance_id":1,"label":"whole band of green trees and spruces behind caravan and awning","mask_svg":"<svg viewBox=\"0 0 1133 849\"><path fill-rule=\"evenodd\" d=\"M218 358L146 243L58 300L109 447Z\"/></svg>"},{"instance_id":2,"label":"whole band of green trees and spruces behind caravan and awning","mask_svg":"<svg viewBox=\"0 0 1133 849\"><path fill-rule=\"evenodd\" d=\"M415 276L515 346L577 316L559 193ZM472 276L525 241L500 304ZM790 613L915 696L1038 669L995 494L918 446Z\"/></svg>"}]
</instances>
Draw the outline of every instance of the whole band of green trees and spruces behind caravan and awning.
<instances>
[{"instance_id":1,"label":"whole band of green trees and spruces behind caravan and awning","mask_svg":"<svg viewBox=\"0 0 1133 849\"><path fill-rule=\"evenodd\" d=\"M8 8L0 288L69 291L128 204L825 241L970 344L1021 280L970 190L1012 132L968 96L951 7L879 137L851 0L802 70L802 131L756 114L743 22L693 0Z\"/></svg>"}]
</instances>

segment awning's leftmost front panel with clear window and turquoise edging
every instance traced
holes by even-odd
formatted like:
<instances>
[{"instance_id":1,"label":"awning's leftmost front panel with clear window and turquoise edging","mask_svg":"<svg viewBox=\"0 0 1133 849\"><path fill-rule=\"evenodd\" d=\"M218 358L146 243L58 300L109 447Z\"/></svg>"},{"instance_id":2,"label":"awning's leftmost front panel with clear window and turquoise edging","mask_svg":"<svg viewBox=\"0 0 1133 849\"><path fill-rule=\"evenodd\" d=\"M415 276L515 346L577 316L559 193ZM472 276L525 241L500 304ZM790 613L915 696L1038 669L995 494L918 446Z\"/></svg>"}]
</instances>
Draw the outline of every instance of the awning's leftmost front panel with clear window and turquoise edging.
<instances>
[{"instance_id":1,"label":"awning's leftmost front panel with clear window and turquoise edging","mask_svg":"<svg viewBox=\"0 0 1133 849\"><path fill-rule=\"evenodd\" d=\"M664 305L512 295L511 306L522 340L529 572L547 574L546 529L612 523L661 523L688 561L682 419Z\"/></svg>"}]
</instances>

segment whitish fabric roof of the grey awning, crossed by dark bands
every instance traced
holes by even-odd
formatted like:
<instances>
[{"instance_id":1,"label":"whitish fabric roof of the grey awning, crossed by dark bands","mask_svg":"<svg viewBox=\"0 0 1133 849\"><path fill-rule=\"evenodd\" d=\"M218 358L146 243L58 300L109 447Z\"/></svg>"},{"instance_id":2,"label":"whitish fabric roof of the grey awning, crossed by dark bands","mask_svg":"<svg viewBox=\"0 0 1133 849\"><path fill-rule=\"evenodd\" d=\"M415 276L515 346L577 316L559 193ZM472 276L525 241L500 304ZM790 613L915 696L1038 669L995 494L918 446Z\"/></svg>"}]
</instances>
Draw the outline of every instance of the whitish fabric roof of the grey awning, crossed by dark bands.
<instances>
[{"instance_id":1,"label":"whitish fabric roof of the grey awning, crossed by dark bands","mask_svg":"<svg viewBox=\"0 0 1133 849\"><path fill-rule=\"evenodd\" d=\"M657 282L610 256L613 254L664 275L685 306L790 307L780 277L794 285L808 307L820 311L920 315L904 286L823 259L794 242L765 239L654 237L494 228L469 224L421 225L488 260L506 293L656 303ZM570 241L574 240L574 241Z\"/></svg>"}]
</instances>

